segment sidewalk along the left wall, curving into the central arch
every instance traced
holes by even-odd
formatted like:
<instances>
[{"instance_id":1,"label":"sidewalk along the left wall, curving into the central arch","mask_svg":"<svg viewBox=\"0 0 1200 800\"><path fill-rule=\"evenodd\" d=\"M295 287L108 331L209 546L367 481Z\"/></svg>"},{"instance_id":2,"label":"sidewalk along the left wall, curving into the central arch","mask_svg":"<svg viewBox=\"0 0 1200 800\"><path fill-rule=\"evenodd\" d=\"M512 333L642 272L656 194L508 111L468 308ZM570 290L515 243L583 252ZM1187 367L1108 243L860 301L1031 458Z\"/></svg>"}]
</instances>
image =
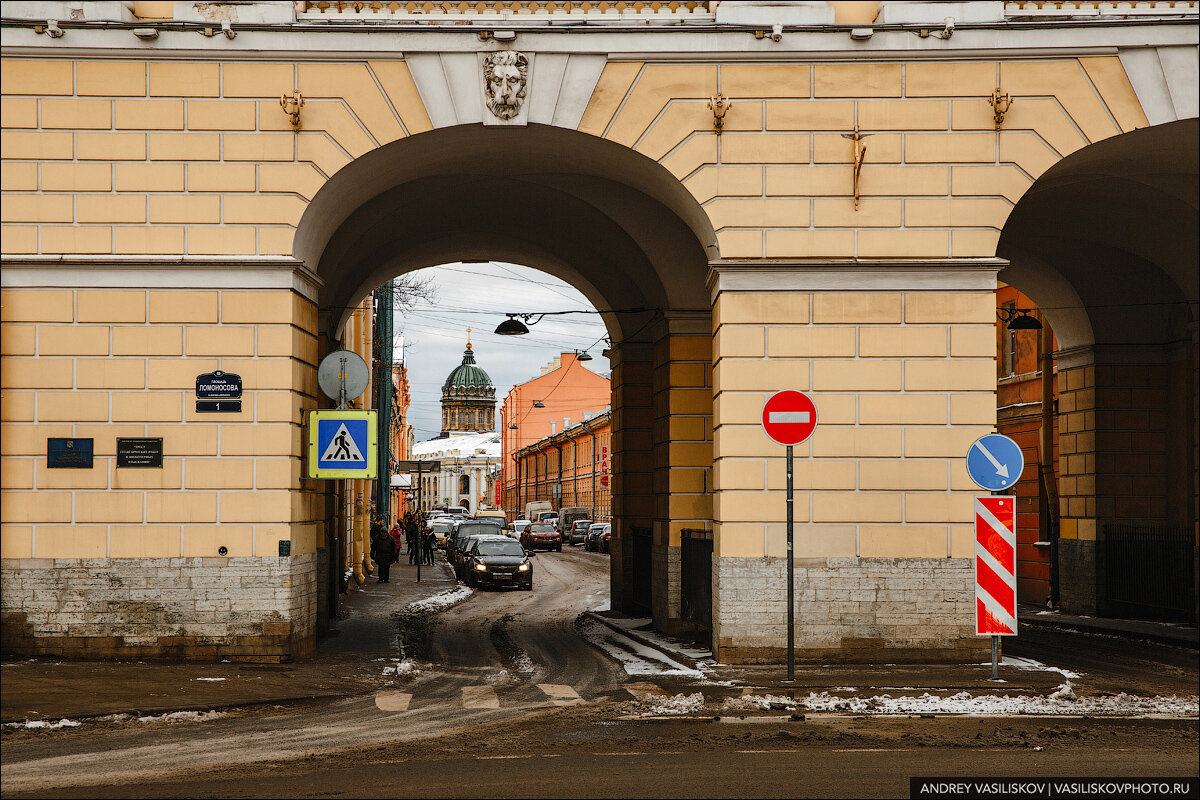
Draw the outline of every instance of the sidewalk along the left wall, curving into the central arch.
<instances>
[{"instance_id":1,"label":"sidewalk along the left wall, curving into the central arch","mask_svg":"<svg viewBox=\"0 0 1200 800\"><path fill-rule=\"evenodd\" d=\"M0 722L154 716L359 694L378 685L379 662L396 657L392 613L456 585L444 559L421 567L416 583L416 567L402 557L389 583L368 577L344 595L343 619L313 658L298 663L5 661Z\"/></svg>"}]
</instances>

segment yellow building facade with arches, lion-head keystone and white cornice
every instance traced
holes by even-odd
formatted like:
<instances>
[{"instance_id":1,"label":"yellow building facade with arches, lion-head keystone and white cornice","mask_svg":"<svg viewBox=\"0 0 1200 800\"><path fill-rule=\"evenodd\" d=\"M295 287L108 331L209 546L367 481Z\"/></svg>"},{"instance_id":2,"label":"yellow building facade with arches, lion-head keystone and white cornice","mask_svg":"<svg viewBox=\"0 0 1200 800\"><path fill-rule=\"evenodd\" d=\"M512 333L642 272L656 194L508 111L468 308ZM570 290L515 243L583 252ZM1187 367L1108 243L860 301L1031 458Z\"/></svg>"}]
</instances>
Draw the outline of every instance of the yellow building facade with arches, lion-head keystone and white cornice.
<instances>
[{"instance_id":1,"label":"yellow building facade with arches, lion-head keystone and white cornice","mask_svg":"<svg viewBox=\"0 0 1200 800\"><path fill-rule=\"evenodd\" d=\"M1099 201L1055 194L1081 175L1194 176L1195 4L1075 5L5 4L6 646L308 652L362 563L330 552L362 487L301 477L316 365L367 347L355 308L388 277L496 258L608 323L614 607L648 575L682 627L680 541L704 531L714 652L782 656L784 459L760 417L797 389L820 416L797 447L798 655L977 657L965 455L996 421L997 273L1063 318L1080 403L1150 350L1194 386L1194 182L1178 251L1087 233L1120 197L1046 207ZM1166 297L1146 305L1182 317L1097 335L1114 295L1084 287L1109 278L1038 258L1088 235L1073 258L1139 253ZM242 411L194 411L214 369L242 377ZM1190 398L1163 404L1190 431L1168 473L1194 525ZM118 468L122 437L161 437L162 468ZM49 469L50 438L92 439L95 465ZM1081 585L1098 439L1063 456Z\"/></svg>"}]
</instances>

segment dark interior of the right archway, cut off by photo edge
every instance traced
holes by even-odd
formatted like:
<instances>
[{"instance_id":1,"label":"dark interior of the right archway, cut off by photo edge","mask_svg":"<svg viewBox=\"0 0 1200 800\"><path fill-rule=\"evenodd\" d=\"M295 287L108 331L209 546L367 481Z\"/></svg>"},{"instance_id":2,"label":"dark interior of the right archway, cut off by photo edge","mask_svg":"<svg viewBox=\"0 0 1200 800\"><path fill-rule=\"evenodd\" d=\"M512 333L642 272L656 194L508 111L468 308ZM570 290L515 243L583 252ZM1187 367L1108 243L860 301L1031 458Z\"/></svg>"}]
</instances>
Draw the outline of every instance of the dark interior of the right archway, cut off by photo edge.
<instances>
[{"instance_id":1,"label":"dark interior of the right archway, cut off by photo edge","mask_svg":"<svg viewBox=\"0 0 1200 800\"><path fill-rule=\"evenodd\" d=\"M1145 539L1121 546L1134 554L1154 537L1195 545L1196 154L1195 119L1090 145L1042 175L1000 239L1000 279L1038 303L1058 341L1066 610L1153 604L1154 581L1134 581L1140 599L1115 588L1130 560L1117 537Z\"/></svg>"}]
</instances>

